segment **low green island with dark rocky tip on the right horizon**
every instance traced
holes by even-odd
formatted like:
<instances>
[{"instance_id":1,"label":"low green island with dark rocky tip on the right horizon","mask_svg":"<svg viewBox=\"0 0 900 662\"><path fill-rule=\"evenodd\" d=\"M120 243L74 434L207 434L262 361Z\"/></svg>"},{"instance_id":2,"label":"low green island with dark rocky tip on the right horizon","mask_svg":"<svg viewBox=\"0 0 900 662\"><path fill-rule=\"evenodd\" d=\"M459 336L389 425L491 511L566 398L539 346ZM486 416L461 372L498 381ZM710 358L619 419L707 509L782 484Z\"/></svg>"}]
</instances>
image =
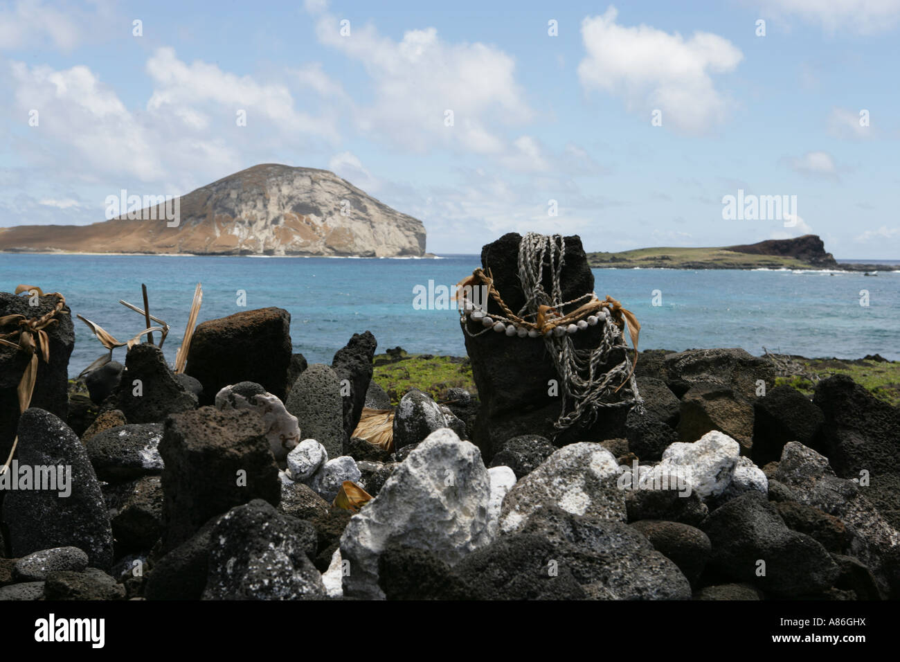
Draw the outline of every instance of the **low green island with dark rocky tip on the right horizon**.
<instances>
[{"instance_id":1,"label":"low green island with dark rocky tip on the right horizon","mask_svg":"<svg viewBox=\"0 0 900 662\"><path fill-rule=\"evenodd\" d=\"M878 264L838 262L825 250L822 239L805 234L794 239L772 239L755 244L714 248L652 248L619 253L589 253L593 268L670 269L840 269L843 271L893 271Z\"/></svg>"}]
</instances>

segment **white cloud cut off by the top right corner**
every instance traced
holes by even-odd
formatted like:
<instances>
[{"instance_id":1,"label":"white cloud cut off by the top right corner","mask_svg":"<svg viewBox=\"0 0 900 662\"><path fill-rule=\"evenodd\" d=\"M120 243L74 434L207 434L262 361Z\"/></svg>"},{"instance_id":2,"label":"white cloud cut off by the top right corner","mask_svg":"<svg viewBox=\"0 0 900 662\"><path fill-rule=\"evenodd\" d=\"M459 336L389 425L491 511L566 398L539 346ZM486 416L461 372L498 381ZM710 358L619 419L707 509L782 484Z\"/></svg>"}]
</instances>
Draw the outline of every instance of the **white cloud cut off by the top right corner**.
<instances>
[{"instance_id":1,"label":"white cloud cut off by the top right corner","mask_svg":"<svg viewBox=\"0 0 900 662\"><path fill-rule=\"evenodd\" d=\"M883 32L900 18L900 0L761 0L759 6L777 16L798 16L829 33Z\"/></svg>"}]
</instances>

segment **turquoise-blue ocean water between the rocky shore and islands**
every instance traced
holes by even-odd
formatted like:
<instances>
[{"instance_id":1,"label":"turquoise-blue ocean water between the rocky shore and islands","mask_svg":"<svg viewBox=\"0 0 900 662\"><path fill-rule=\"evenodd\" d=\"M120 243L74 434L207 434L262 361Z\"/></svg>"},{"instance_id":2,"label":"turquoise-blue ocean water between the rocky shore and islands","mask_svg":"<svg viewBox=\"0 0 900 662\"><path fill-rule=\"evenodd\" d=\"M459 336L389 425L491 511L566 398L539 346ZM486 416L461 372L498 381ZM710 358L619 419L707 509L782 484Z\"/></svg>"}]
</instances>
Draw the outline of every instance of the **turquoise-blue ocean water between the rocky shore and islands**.
<instances>
[{"instance_id":1,"label":"turquoise-blue ocean water between the rocky shore and islands","mask_svg":"<svg viewBox=\"0 0 900 662\"><path fill-rule=\"evenodd\" d=\"M0 254L0 290L19 284L61 292L119 340L144 328L121 304L142 305L171 327L164 345L175 360L193 298L203 287L199 321L275 305L291 313L294 351L330 363L354 332L372 331L379 351L464 356L455 310L416 310L415 286L452 286L479 266L477 256L438 259L238 258ZM642 324L640 349L742 347L807 357L900 359L900 272L595 269L595 291L612 295ZM238 305L238 291L247 304ZM657 294L658 291L658 295ZM868 304L866 303L868 293ZM654 295L656 303L654 305ZM83 322L69 363L75 376L103 346ZM158 338L157 338L158 341ZM125 349L113 358L123 361Z\"/></svg>"}]
</instances>

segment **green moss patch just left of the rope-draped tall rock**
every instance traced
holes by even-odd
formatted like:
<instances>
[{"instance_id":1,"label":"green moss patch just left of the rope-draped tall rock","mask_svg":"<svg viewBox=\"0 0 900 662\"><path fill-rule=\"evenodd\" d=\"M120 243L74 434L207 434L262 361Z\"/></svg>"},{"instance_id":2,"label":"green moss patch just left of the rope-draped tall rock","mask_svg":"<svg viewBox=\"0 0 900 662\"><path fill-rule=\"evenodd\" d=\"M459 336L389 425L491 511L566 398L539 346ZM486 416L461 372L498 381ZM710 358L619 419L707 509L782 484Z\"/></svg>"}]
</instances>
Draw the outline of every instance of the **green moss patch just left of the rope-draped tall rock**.
<instances>
[{"instance_id":1,"label":"green moss patch just left of the rope-draped tall rock","mask_svg":"<svg viewBox=\"0 0 900 662\"><path fill-rule=\"evenodd\" d=\"M407 354L401 350L379 354L373 364L375 383L387 392L394 405L412 388L427 393L437 402L446 399L450 388L476 393L468 358Z\"/></svg>"}]
</instances>

